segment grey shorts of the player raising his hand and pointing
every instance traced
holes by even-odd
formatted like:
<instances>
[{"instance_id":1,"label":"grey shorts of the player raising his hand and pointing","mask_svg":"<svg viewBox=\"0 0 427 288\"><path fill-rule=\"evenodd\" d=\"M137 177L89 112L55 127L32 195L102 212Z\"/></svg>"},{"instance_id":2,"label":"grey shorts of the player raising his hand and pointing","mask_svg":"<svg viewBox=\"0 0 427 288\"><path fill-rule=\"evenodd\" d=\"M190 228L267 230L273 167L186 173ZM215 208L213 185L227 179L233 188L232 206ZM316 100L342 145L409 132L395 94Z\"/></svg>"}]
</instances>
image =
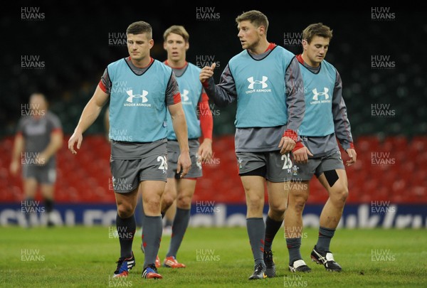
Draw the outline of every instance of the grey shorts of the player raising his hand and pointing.
<instances>
[{"instance_id":1,"label":"grey shorts of the player raising his hand and pointing","mask_svg":"<svg viewBox=\"0 0 427 288\"><path fill-rule=\"evenodd\" d=\"M285 179L285 161L280 151L236 152L236 157L239 175L265 167L265 175L260 176L268 181L283 182Z\"/></svg>"}]
</instances>

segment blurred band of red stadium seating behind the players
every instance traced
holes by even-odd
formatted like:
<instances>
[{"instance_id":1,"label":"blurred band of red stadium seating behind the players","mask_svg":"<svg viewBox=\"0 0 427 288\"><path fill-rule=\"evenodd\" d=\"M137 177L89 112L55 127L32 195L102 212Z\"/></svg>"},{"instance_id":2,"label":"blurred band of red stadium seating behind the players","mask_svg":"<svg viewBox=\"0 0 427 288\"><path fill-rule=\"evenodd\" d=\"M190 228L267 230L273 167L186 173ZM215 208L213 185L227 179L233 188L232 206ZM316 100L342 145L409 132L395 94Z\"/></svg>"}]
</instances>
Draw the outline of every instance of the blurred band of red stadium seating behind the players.
<instances>
[{"instance_id":1,"label":"blurred band of red stadium seating behind the players","mask_svg":"<svg viewBox=\"0 0 427 288\"><path fill-rule=\"evenodd\" d=\"M58 181L56 201L66 203L115 203L109 190L110 144L103 135L85 137L77 155L68 151L69 136L58 153ZM13 137L0 142L0 193L1 202L21 201L22 182L19 176L9 174ZM246 203L245 192L238 176L234 137L218 137L213 142L214 161L204 165L204 176L197 181L194 201ZM357 163L346 166L349 183L347 203L396 201L396 203L427 203L427 137L363 136L355 139ZM341 149L342 151L342 149ZM389 152L384 159L394 159L394 164L375 165L373 153ZM342 151L342 159L348 156ZM39 193L38 193L39 194ZM38 196L40 197L40 196ZM324 204L328 195L317 178L310 181L307 203Z\"/></svg>"}]
</instances>

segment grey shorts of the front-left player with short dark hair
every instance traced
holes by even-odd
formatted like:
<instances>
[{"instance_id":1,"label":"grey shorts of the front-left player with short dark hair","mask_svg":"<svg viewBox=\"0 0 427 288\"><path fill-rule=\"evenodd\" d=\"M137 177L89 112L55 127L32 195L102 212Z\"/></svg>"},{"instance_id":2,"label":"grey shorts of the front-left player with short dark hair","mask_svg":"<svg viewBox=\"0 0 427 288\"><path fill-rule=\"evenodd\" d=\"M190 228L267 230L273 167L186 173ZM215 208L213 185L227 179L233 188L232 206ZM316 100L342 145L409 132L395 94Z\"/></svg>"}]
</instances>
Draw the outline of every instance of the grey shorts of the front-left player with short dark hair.
<instances>
[{"instance_id":1,"label":"grey shorts of the front-left player with short dark hair","mask_svg":"<svg viewBox=\"0 0 427 288\"><path fill-rule=\"evenodd\" d=\"M112 144L112 149L114 145ZM121 145L118 149L123 149ZM132 144L129 144L132 145ZM116 193L129 193L138 188L141 181L167 181L167 146L166 142L152 148L152 144L140 144L139 148L148 146L147 154L137 159L110 159L110 169L112 174L112 188ZM134 144L135 148L135 144ZM117 153L118 154L118 153ZM135 155L134 155L135 156Z\"/></svg>"}]
</instances>

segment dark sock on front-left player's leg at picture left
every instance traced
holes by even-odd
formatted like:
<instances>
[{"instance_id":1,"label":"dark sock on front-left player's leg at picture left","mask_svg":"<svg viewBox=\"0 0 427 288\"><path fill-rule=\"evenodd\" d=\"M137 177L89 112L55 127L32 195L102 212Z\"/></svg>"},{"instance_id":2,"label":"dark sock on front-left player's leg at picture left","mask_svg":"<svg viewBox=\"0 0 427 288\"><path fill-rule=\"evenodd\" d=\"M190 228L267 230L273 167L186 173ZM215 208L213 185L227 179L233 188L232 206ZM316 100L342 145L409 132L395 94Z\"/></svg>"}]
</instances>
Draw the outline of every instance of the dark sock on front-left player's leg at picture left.
<instances>
[{"instance_id":1,"label":"dark sock on front-left player's leg at picture left","mask_svg":"<svg viewBox=\"0 0 427 288\"><path fill-rule=\"evenodd\" d=\"M137 229L135 215L123 219L117 214L116 227L120 242L120 257L130 257L132 255L132 242Z\"/></svg>"}]
</instances>

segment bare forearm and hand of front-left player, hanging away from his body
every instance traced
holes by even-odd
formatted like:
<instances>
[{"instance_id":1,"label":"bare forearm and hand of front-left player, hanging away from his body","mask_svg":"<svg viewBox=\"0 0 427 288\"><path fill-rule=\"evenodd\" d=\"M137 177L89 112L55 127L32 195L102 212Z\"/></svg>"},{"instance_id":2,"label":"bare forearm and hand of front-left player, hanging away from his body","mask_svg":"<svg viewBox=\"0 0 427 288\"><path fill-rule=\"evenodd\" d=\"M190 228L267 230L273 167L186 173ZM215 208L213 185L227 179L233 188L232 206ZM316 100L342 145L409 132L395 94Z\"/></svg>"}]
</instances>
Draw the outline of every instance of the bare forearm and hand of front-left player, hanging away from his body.
<instances>
[{"instance_id":1,"label":"bare forearm and hand of front-left player, hanging away from his body","mask_svg":"<svg viewBox=\"0 0 427 288\"><path fill-rule=\"evenodd\" d=\"M90 98L88 104L86 104L85 109L83 109L80 120L78 121L77 127L75 127L73 135L71 135L68 140L68 149L73 154L77 154L77 151L74 149L75 143L77 143L77 149L80 149L80 146L83 141L83 132L90 127L90 125L95 122L99 116L102 107L108 100L109 95L102 91L100 86L96 87L95 92L93 93L92 98Z\"/></svg>"}]
</instances>

